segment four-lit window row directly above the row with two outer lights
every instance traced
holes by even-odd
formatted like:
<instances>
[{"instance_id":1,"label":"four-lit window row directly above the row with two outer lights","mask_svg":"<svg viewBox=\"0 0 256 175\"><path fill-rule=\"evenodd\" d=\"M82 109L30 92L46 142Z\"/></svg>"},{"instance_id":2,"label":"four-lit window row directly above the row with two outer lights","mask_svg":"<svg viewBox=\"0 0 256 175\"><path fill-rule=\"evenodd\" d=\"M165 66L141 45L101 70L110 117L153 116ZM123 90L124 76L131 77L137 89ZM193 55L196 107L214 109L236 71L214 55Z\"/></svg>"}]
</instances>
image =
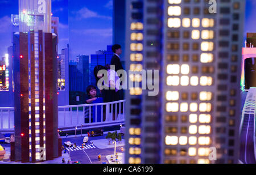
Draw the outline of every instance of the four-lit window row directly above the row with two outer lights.
<instances>
[{"instance_id":1,"label":"four-lit window row directly above the row with two outer lights","mask_svg":"<svg viewBox=\"0 0 256 175\"><path fill-rule=\"evenodd\" d=\"M167 76L166 83L168 86L188 86L189 85L189 77L188 76ZM199 84L198 76L191 76L190 78L191 86L197 86ZM200 85L201 86L212 86L213 78L210 76L201 76L200 77Z\"/></svg>"}]
</instances>

